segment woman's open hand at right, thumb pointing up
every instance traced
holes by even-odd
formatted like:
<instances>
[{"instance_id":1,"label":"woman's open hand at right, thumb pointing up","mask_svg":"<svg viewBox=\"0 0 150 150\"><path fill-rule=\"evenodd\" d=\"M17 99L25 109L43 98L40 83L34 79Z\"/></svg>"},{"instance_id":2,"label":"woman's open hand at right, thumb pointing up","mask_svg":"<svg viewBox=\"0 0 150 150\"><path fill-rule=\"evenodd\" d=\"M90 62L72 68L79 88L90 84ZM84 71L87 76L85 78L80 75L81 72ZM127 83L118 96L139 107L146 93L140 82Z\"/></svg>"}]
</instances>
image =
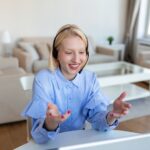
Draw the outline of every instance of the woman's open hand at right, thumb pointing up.
<instances>
[{"instance_id":1,"label":"woman's open hand at right, thumb pointing up","mask_svg":"<svg viewBox=\"0 0 150 150\"><path fill-rule=\"evenodd\" d=\"M121 95L114 101L113 109L107 115L107 122L109 125L113 124L113 122L128 114L129 109L131 108L131 104L124 102L124 98L126 97L126 92L121 93Z\"/></svg>"}]
</instances>

